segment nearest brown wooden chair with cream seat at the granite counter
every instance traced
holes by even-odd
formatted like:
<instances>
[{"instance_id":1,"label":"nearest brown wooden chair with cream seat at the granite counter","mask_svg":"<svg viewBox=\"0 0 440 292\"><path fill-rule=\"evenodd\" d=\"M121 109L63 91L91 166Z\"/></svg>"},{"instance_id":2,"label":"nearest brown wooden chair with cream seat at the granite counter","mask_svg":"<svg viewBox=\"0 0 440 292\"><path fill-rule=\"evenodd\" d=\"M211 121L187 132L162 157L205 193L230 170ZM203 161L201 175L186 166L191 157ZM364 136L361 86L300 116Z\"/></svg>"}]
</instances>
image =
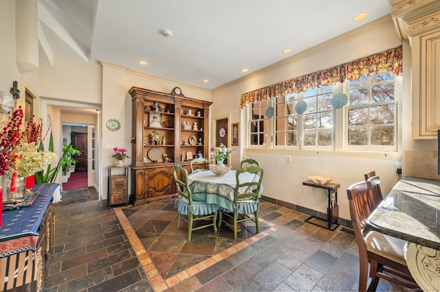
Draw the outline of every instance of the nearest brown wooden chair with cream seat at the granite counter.
<instances>
[{"instance_id":1,"label":"nearest brown wooden chair with cream seat at the granite counter","mask_svg":"<svg viewBox=\"0 0 440 292\"><path fill-rule=\"evenodd\" d=\"M375 231L364 234L366 219L371 213L368 193L366 182L358 182L347 188L351 223L359 249L359 291L367 291L367 288L368 291L375 291L380 278L411 289L419 288L406 267L406 241Z\"/></svg>"}]
</instances>

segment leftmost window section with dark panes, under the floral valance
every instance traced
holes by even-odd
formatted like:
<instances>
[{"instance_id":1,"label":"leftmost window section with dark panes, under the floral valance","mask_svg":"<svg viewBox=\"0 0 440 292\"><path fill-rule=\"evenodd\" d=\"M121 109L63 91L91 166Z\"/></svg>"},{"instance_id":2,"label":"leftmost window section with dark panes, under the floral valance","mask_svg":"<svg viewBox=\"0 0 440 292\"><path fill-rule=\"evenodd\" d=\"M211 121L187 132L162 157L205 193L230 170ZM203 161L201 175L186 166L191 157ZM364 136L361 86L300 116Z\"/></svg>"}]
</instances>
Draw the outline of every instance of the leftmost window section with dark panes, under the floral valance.
<instances>
[{"instance_id":1,"label":"leftmost window section with dark panes, under the floral valance","mask_svg":"<svg viewBox=\"0 0 440 292\"><path fill-rule=\"evenodd\" d=\"M251 117L249 119L250 145L267 145L269 123L265 112L270 100L263 99L251 104Z\"/></svg>"}]
</instances>

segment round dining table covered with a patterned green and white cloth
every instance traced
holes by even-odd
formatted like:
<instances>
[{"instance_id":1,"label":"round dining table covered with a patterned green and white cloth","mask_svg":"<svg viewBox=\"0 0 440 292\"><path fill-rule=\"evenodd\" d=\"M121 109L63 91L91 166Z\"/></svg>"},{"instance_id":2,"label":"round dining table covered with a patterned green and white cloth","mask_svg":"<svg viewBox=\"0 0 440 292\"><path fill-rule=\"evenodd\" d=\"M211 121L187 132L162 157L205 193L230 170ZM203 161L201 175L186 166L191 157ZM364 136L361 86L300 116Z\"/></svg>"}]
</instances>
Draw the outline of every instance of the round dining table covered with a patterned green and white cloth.
<instances>
[{"instance_id":1,"label":"round dining table covered with a patterned green and white cloth","mask_svg":"<svg viewBox=\"0 0 440 292\"><path fill-rule=\"evenodd\" d=\"M259 175L244 172L239 175L240 182L256 182ZM236 188L236 170L224 175L215 175L212 171L199 171L188 175L188 184L192 199L208 204L217 204L223 210L234 212L234 193ZM243 187L239 192L243 192ZM261 194L260 194L261 195Z\"/></svg>"}]
</instances>

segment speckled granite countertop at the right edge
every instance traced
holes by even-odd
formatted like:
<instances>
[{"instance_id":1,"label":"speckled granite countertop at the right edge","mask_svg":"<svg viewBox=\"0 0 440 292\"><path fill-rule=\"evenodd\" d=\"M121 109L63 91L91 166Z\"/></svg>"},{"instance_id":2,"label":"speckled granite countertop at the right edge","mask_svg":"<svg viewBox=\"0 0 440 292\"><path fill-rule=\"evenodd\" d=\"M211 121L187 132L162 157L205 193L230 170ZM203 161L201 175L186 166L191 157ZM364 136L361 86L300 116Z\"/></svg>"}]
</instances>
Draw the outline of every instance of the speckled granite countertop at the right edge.
<instances>
[{"instance_id":1,"label":"speckled granite countertop at the right edge","mask_svg":"<svg viewBox=\"0 0 440 292\"><path fill-rule=\"evenodd\" d=\"M440 250L440 181L401 178L366 224L378 232Z\"/></svg>"}]
</instances>

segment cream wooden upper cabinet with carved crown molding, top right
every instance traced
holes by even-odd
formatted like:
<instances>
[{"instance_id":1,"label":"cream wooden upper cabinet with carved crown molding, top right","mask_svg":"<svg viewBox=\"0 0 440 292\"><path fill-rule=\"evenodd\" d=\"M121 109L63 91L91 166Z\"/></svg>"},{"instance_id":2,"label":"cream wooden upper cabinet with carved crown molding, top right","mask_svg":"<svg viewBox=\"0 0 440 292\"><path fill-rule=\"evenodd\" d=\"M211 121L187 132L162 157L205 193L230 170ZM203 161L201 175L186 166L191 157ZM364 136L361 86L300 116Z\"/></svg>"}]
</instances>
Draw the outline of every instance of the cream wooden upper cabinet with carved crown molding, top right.
<instances>
[{"instance_id":1,"label":"cream wooden upper cabinet with carved crown molding, top right","mask_svg":"<svg viewBox=\"0 0 440 292\"><path fill-rule=\"evenodd\" d=\"M390 0L401 39L412 51L412 138L434 139L440 129L440 1ZM438 88L437 88L438 87Z\"/></svg>"}]
</instances>

